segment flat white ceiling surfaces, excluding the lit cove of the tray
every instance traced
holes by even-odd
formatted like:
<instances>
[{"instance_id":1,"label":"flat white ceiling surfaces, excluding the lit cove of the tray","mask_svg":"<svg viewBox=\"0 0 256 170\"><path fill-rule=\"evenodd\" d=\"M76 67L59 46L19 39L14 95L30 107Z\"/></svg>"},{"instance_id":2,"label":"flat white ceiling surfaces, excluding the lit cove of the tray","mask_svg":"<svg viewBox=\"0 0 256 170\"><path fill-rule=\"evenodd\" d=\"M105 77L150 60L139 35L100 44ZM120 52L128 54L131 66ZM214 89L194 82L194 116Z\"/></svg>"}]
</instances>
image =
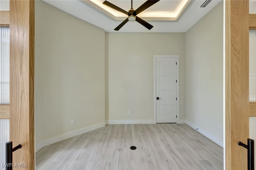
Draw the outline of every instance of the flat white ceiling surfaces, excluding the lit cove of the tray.
<instances>
[{"instance_id":1,"label":"flat white ceiling surfaces, excluding the lit cove of the tray","mask_svg":"<svg viewBox=\"0 0 256 170\"><path fill-rule=\"evenodd\" d=\"M91 6L88 0L44 0L48 4L59 8L77 18L80 18L86 22L94 24L106 32L117 32L114 30L116 26L118 26L122 20L115 20L105 14L104 12L98 10L97 8ZM118 6L117 0L108 0L112 4ZM121 0L120 0L121 1ZM129 0L122 0L127 1L126 3L122 3L120 8L124 10L129 10L131 4ZM144 0L146 2L146 0ZM166 2L173 2L175 0L160 0L156 4L159 3L158 6L161 6L163 3ZM177 0L176 0L177 1ZM154 27L151 30L148 30L138 22L127 22L118 32L186 32L189 30L198 20L200 20L205 14L207 14L214 6L216 6L221 0L212 0L206 8L199 8L205 0L192 0L186 6L185 10L179 16L176 21L162 21L162 20L146 20L148 23L153 25ZM143 3L143 1L141 1ZM160 4L162 2L162 4ZM156 5L154 4L154 5ZM153 5L153 6L154 6ZM153 7L151 6L151 7ZM150 7L150 8L151 8ZM134 9L138 8L134 6ZM148 8L147 10L150 10ZM156 7L153 8L157 9ZM158 9L159 10L159 9ZM139 16L139 15L138 15Z\"/></svg>"}]
</instances>

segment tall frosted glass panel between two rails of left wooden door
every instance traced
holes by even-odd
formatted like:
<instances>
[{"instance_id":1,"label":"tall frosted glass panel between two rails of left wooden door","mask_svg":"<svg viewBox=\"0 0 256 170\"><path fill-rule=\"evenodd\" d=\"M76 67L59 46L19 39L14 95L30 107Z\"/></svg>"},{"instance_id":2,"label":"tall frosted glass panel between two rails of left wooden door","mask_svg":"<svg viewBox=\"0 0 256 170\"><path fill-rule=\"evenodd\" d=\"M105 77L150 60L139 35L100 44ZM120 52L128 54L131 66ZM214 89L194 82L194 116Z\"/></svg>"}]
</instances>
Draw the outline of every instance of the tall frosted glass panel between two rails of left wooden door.
<instances>
[{"instance_id":1,"label":"tall frosted glass panel between two rails of left wooden door","mask_svg":"<svg viewBox=\"0 0 256 170\"><path fill-rule=\"evenodd\" d=\"M0 27L0 104L10 103L10 34Z\"/></svg>"}]
</instances>

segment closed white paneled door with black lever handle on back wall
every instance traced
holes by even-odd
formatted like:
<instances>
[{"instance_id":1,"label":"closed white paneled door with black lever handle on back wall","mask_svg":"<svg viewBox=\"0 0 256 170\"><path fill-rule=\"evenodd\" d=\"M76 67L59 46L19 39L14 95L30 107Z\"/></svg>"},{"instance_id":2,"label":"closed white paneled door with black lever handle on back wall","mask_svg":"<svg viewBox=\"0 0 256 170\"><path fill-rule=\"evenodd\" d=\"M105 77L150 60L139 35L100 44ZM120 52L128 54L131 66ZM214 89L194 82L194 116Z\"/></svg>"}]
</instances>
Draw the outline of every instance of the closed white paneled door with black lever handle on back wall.
<instances>
[{"instance_id":1,"label":"closed white paneled door with black lever handle on back wall","mask_svg":"<svg viewBox=\"0 0 256 170\"><path fill-rule=\"evenodd\" d=\"M156 58L156 123L177 122L177 60Z\"/></svg>"}]
</instances>

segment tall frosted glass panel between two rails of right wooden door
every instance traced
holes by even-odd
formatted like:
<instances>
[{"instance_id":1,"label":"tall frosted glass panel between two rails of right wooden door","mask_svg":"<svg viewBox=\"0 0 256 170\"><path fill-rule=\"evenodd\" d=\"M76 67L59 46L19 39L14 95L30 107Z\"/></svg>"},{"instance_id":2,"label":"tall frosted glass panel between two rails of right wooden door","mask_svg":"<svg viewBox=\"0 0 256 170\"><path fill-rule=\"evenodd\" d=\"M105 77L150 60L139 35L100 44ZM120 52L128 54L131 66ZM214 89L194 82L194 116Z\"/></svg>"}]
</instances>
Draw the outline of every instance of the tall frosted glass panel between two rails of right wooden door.
<instances>
[{"instance_id":1,"label":"tall frosted glass panel between two rails of right wooden door","mask_svg":"<svg viewBox=\"0 0 256 170\"><path fill-rule=\"evenodd\" d=\"M256 30L250 30L249 38L249 101L256 102Z\"/></svg>"}]
</instances>

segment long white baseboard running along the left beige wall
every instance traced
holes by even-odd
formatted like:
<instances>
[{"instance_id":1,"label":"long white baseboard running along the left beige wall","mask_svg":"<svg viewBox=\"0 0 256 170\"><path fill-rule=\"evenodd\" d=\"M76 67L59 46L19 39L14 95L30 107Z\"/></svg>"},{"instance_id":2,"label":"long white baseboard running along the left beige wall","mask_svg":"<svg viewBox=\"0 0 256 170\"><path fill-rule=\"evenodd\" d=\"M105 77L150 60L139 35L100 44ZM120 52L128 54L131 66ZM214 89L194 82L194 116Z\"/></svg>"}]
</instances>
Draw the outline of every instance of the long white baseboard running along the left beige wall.
<instances>
[{"instance_id":1,"label":"long white baseboard running along the left beige wall","mask_svg":"<svg viewBox=\"0 0 256 170\"><path fill-rule=\"evenodd\" d=\"M98 123L98 124L94 124L92 126L87 126L85 128L82 128L82 129L78 129L78 130L74 130L72 132L68 132L68 133L65 133L65 134L61 134L59 136L55 136L53 138L50 138L50 139L46 139L42 142L39 142L38 144L36 144L36 152L38 150L40 150L41 148L43 148L44 146L47 146L47 145L50 145L50 144L53 144L53 143L56 143L56 142L60 142L62 140L65 140L65 139L68 139L68 138L72 138L74 136L77 136L77 135L80 135L80 134L83 134L83 133L86 133L86 132L89 132L91 130L95 130L95 129L98 129L98 128L102 128L105 126L105 122L101 122L101 123Z\"/></svg>"}]
</instances>

